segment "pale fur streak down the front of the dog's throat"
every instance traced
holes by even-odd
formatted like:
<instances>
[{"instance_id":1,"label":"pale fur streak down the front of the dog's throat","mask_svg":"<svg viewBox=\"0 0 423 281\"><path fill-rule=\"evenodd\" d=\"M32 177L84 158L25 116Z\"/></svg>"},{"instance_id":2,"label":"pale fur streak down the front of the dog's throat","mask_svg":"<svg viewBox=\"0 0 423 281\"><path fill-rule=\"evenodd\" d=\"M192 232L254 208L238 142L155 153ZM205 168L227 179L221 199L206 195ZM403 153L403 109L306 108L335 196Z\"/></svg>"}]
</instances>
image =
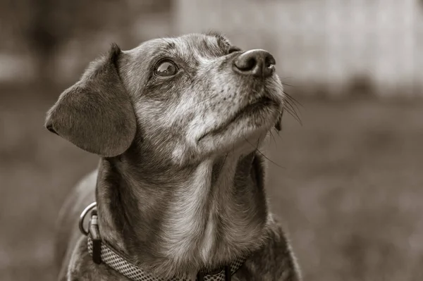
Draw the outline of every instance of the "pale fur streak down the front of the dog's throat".
<instances>
[{"instance_id":1,"label":"pale fur streak down the front of the dog's throat","mask_svg":"<svg viewBox=\"0 0 423 281\"><path fill-rule=\"evenodd\" d=\"M221 216L228 185L233 182L231 163L226 163L226 173L221 173L212 184L213 161L206 161L197 168L191 185L181 190L170 204L164 241L173 256L200 254L204 263L216 249L216 219ZM223 170L223 169L222 169Z\"/></svg>"}]
</instances>

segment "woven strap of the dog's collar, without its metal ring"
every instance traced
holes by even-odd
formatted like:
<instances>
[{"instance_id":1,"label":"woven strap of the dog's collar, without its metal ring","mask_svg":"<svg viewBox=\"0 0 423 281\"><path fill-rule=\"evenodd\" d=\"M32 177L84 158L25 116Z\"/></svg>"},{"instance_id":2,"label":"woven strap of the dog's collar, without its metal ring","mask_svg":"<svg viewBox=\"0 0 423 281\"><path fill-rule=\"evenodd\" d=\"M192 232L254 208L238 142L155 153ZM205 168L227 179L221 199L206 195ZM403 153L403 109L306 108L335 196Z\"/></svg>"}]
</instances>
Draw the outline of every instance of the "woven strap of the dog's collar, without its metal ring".
<instances>
[{"instance_id":1,"label":"woven strap of the dog's collar, without its metal ring","mask_svg":"<svg viewBox=\"0 0 423 281\"><path fill-rule=\"evenodd\" d=\"M93 241L88 235L88 251L90 252L90 255L92 255L93 250ZM125 258L123 258L121 255L116 253L114 249L111 249L111 247L104 244L104 242L101 244L101 250L100 250L100 256L102 259L102 263L105 263L107 266L113 268L118 273L121 273L125 277L128 277L130 280L134 281L165 281L162 278L154 277L149 273L146 273L142 268L139 268L129 261L127 261ZM231 275L233 275L245 262L245 258L238 258L237 260L233 261L231 263ZM197 279L196 279L197 280ZM225 270L221 270L219 273L204 275L203 277L204 281L220 281L220 280L226 280L225 276ZM168 281L191 281L187 278L178 279L177 277L173 277Z\"/></svg>"}]
</instances>

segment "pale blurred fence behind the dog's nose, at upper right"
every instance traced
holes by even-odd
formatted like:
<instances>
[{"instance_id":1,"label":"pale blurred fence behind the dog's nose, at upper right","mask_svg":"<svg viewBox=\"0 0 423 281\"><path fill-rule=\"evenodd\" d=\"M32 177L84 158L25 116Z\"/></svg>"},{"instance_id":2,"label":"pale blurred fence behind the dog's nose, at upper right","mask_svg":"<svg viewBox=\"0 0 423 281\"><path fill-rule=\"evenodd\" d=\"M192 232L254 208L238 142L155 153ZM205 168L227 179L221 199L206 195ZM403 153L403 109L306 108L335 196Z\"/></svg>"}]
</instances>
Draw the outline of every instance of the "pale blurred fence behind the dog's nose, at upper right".
<instances>
[{"instance_id":1,"label":"pale blurred fence behind the dog's nose, at upper right","mask_svg":"<svg viewBox=\"0 0 423 281\"><path fill-rule=\"evenodd\" d=\"M178 32L215 29L243 49L268 49L281 77L309 94L423 95L419 0L176 2Z\"/></svg>"}]
</instances>

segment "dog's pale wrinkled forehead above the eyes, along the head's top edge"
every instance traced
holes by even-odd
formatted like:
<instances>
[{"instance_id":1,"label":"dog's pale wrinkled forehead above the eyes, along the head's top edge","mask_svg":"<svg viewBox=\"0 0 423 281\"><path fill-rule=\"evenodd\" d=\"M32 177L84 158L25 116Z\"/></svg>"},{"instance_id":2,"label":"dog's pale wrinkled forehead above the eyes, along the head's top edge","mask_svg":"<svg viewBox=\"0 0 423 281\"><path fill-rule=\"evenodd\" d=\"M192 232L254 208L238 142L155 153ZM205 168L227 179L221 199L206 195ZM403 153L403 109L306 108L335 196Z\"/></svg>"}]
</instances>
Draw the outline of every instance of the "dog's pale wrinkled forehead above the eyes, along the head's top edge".
<instances>
[{"instance_id":1,"label":"dog's pale wrinkled forehead above the eyes, along the head's top edge","mask_svg":"<svg viewBox=\"0 0 423 281\"><path fill-rule=\"evenodd\" d=\"M172 56L190 61L192 58L223 56L231 46L226 37L218 33L190 34L180 37L152 39L131 50L137 56Z\"/></svg>"}]
</instances>

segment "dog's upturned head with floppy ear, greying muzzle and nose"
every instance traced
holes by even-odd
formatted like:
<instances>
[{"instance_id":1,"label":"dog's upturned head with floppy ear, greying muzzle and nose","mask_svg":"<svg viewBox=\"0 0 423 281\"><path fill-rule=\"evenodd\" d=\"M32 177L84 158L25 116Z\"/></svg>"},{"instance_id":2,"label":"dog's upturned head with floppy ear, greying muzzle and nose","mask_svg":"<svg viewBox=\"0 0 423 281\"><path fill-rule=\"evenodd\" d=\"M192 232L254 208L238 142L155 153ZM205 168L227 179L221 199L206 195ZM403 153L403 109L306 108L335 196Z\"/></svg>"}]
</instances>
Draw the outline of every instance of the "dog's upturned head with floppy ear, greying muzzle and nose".
<instances>
[{"instance_id":1,"label":"dog's upturned head with floppy ear, greying muzzle and nose","mask_svg":"<svg viewBox=\"0 0 423 281\"><path fill-rule=\"evenodd\" d=\"M217 34L154 39L130 51L113 45L61 94L46 127L104 157L134 143L178 165L248 153L280 127L274 65L267 51L242 51Z\"/></svg>"}]
</instances>

